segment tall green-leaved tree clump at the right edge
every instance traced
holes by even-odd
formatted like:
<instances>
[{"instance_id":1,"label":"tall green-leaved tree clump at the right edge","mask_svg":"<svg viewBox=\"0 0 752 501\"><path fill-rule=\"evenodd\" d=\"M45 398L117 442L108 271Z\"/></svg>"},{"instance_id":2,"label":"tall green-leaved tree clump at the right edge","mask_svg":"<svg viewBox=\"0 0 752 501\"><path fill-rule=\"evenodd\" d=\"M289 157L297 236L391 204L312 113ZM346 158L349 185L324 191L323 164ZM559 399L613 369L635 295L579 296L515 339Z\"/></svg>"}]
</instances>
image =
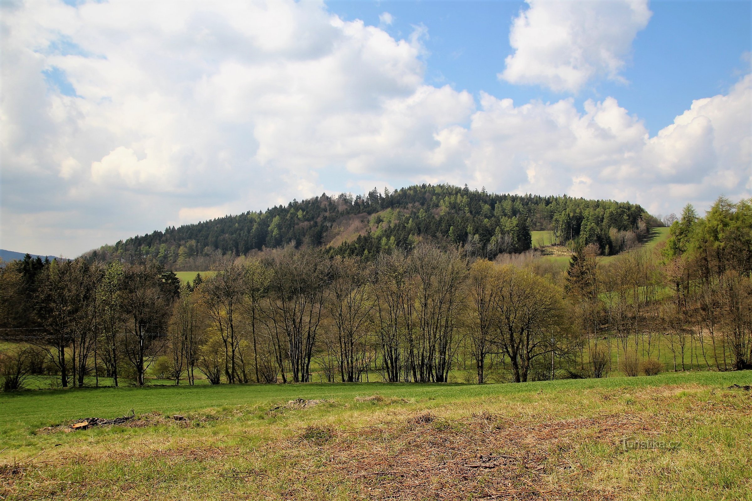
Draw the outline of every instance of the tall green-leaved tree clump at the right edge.
<instances>
[{"instance_id":1,"label":"tall green-leaved tree clump at the right edge","mask_svg":"<svg viewBox=\"0 0 752 501\"><path fill-rule=\"evenodd\" d=\"M701 342L721 333L731 356L724 350L716 367L752 369L752 200L721 197L704 218L687 205L670 232L664 255L675 328L693 329Z\"/></svg>"}]
</instances>

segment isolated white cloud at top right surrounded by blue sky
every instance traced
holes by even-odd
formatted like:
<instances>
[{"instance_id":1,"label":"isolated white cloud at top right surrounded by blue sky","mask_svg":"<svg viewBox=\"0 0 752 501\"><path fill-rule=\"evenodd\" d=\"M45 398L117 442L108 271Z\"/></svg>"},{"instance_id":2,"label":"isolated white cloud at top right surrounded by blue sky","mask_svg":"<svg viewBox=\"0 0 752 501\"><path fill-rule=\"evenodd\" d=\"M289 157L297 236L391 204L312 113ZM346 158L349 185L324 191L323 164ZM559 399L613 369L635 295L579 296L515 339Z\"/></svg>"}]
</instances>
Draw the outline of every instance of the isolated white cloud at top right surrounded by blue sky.
<instances>
[{"instance_id":1,"label":"isolated white cloud at top right surrounded by blue sky","mask_svg":"<svg viewBox=\"0 0 752 501\"><path fill-rule=\"evenodd\" d=\"M578 92L595 77L623 81L632 41L650 20L647 0L527 0L512 23L514 54L499 78L556 92Z\"/></svg>"}]
</instances>

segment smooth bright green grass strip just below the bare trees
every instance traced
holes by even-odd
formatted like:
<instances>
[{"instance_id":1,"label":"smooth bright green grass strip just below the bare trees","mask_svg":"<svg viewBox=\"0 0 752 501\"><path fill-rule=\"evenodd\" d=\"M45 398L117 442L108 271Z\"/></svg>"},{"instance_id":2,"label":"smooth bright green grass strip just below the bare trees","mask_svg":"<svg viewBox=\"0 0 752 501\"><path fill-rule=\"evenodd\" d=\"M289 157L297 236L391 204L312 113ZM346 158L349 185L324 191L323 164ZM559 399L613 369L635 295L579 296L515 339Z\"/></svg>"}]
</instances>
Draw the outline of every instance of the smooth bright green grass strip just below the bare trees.
<instances>
[{"instance_id":1,"label":"smooth bright green grass strip just below the bare trees","mask_svg":"<svg viewBox=\"0 0 752 501\"><path fill-rule=\"evenodd\" d=\"M496 385L414 383L308 383L298 385L195 385L147 388L77 388L0 394L0 433L60 424L95 416L114 418L134 409L137 414L194 412L221 406L271 404L295 398L352 400L356 396L465 400L535 392L572 392L590 388L640 388L695 383L717 387L750 385L752 371L663 373L659 376L605 379L564 379L552 382Z\"/></svg>"}]
</instances>

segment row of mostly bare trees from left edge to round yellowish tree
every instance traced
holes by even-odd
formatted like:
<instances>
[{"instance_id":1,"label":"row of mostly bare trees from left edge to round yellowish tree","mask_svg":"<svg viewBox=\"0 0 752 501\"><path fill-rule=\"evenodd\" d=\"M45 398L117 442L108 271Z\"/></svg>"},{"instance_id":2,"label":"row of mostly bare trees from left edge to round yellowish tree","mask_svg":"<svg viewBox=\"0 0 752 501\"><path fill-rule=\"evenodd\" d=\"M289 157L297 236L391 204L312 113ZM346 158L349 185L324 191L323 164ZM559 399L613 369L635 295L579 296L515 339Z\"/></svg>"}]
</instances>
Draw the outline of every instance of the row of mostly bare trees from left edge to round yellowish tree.
<instances>
[{"instance_id":1,"label":"row of mostly bare trees from left edge to round yellowish tree","mask_svg":"<svg viewBox=\"0 0 752 501\"><path fill-rule=\"evenodd\" d=\"M310 382L314 370L328 381L447 382L469 346L479 381L492 346L526 381L571 335L562 291L546 279L484 260L468 267L465 253L426 244L371 261L288 247L229 258L182 288L153 262L84 259L17 261L0 283L10 291L3 323L14 325L5 339L21 343L5 356L8 389L45 371L63 387L92 375L143 385L151 364L189 384L197 373L212 384Z\"/></svg>"}]
</instances>

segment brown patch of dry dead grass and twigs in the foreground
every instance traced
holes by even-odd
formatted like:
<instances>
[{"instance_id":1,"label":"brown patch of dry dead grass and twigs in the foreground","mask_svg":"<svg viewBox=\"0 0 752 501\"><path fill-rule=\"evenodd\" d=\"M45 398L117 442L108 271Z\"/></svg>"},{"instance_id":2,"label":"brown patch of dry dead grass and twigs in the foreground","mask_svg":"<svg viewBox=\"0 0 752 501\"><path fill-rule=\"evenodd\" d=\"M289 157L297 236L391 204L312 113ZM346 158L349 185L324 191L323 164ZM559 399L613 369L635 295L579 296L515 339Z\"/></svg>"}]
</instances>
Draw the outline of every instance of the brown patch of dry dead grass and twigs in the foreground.
<instances>
[{"instance_id":1,"label":"brown patch of dry dead grass and twigs in the foreground","mask_svg":"<svg viewBox=\"0 0 752 501\"><path fill-rule=\"evenodd\" d=\"M323 457L316 476L352 482L367 499L613 499L582 483L590 472L566 453L584 439L616 448L649 429L635 415L520 424L487 412L459 420L426 412L396 425L328 428L317 440L305 437L322 430L305 430L274 450L292 463Z\"/></svg>"}]
</instances>

